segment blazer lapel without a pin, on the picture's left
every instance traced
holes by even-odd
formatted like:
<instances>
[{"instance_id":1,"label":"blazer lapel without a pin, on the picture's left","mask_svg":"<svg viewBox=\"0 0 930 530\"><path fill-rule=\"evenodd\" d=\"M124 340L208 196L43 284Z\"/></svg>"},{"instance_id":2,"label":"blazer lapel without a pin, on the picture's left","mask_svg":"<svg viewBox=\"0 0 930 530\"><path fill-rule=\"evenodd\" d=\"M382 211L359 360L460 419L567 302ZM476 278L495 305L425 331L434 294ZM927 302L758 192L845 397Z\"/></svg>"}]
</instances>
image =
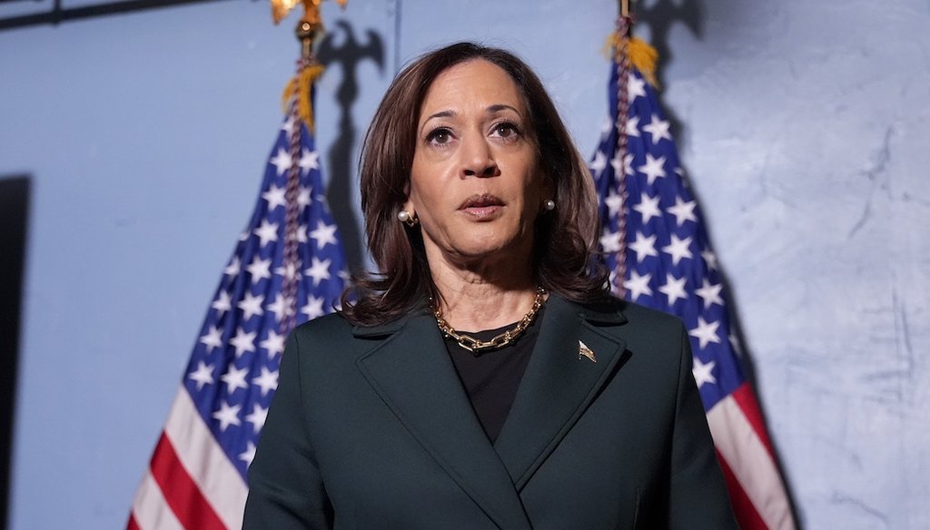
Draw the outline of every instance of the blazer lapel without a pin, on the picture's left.
<instances>
[{"instance_id":1,"label":"blazer lapel without a pin, on the picture's left","mask_svg":"<svg viewBox=\"0 0 930 530\"><path fill-rule=\"evenodd\" d=\"M462 389L435 320L412 315L357 365L405 428L500 527L531 525L508 471L487 440Z\"/></svg>"}]
</instances>

